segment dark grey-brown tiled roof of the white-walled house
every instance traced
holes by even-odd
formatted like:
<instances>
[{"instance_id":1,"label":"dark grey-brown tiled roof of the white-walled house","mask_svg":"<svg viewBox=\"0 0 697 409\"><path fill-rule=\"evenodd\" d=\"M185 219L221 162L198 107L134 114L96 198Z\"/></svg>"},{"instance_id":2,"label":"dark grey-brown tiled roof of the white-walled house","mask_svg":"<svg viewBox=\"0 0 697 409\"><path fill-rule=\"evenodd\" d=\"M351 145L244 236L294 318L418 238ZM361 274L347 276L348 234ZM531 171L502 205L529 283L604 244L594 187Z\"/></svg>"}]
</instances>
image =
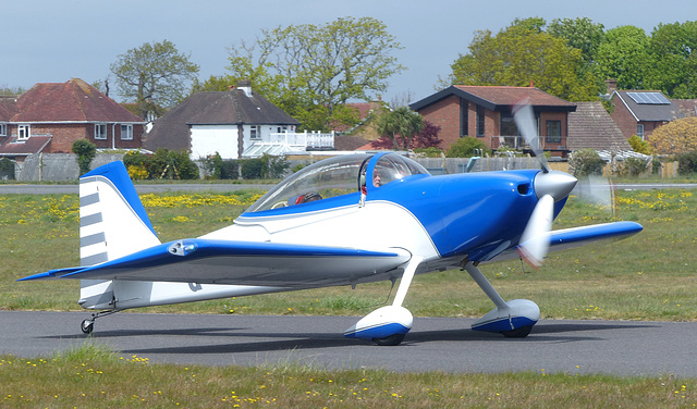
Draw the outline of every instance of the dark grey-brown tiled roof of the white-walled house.
<instances>
[{"instance_id":1,"label":"dark grey-brown tiled roof of the white-walled house","mask_svg":"<svg viewBox=\"0 0 697 409\"><path fill-rule=\"evenodd\" d=\"M189 125L221 124L298 125L299 122L256 92L252 97L243 89L197 92L155 122L145 148L189 149Z\"/></svg>"}]
</instances>

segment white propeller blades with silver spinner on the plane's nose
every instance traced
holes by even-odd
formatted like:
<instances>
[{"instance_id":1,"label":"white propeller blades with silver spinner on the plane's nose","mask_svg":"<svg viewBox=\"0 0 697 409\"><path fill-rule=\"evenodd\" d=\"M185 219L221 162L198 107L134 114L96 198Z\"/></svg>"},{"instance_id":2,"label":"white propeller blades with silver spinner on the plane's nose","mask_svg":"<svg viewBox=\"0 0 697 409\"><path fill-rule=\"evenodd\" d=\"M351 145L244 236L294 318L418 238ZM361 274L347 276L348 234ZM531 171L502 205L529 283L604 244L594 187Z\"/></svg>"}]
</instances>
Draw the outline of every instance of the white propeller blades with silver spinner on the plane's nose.
<instances>
[{"instance_id":1,"label":"white propeller blades with silver spinner on the plane's nose","mask_svg":"<svg viewBox=\"0 0 697 409\"><path fill-rule=\"evenodd\" d=\"M549 249L549 232L552 230L554 202L568 196L577 181L567 173L552 171L549 168L539 142L535 114L529 100L524 100L513 107L513 117L521 135L542 166L542 172L535 176L534 182L535 194L539 200L518 241L518 255L530 265L538 268L542 264Z\"/></svg>"}]
</instances>

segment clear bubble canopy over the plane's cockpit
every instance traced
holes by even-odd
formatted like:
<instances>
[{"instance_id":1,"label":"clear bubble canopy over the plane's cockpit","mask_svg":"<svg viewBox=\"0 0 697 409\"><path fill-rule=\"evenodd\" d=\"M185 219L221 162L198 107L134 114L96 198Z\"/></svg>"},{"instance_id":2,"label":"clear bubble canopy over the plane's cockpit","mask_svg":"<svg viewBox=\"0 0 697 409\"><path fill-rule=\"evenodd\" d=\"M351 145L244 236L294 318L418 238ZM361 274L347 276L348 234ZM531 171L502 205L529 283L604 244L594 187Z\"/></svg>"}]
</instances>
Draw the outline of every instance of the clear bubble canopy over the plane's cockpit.
<instances>
[{"instance_id":1,"label":"clear bubble canopy over the plane's cockpit","mask_svg":"<svg viewBox=\"0 0 697 409\"><path fill-rule=\"evenodd\" d=\"M289 176L252 205L246 213L355 194L365 188L365 181L372 181L367 187L371 189L416 174L428 174L428 171L396 153L339 156Z\"/></svg>"}]
</instances>

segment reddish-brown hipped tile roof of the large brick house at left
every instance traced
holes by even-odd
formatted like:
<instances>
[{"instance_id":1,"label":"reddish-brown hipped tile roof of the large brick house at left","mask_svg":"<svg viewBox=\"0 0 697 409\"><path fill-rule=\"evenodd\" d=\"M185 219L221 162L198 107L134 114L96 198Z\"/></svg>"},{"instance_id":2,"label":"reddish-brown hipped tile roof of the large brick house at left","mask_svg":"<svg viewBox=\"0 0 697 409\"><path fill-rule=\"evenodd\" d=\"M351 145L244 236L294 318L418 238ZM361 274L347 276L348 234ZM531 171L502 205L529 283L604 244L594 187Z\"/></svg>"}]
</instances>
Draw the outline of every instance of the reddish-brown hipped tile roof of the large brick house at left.
<instances>
[{"instance_id":1,"label":"reddish-brown hipped tile roof of the large brick house at left","mask_svg":"<svg viewBox=\"0 0 697 409\"><path fill-rule=\"evenodd\" d=\"M113 99L82 79L39 83L16 100L12 122L144 123Z\"/></svg>"}]
</instances>

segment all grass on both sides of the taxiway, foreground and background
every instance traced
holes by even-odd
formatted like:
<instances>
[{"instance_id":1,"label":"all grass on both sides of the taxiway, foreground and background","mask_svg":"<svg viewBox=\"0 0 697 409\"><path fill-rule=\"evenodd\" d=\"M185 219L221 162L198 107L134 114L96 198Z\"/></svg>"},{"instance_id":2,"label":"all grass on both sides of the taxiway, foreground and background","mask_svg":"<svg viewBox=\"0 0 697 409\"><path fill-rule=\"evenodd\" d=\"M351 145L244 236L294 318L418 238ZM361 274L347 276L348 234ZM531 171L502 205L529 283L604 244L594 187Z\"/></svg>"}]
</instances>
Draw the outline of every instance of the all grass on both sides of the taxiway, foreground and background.
<instances>
[{"instance_id":1,"label":"all grass on both sides of the taxiway, foreground and background","mask_svg":"<svg viewBox=\"0 0 697 409\"><path fill-rule=\"evenodd\" d=\"M258 194L144 195L161 239L222 227ZM16 283L78 263L77 199L0 197L0 309L80 310L72 281ZM542 318L697 320L697 190L620 191L619 220L645 231L550 255L530 271L519 261L484 264L506 299L536 301ZM572 198L554 227L613 220L607 209ZM304 290L148 309L227 314L365 314L383 303L389 283ZM480 317L491 301L457 270L417 276L405 306L416 315ZM119 357L89 342L50 357L0 357L0 407L311 407L559 408L697 406L697 380L546 374L400 374L294 364L209 368Z\"/></svg>"}]
</instances>

